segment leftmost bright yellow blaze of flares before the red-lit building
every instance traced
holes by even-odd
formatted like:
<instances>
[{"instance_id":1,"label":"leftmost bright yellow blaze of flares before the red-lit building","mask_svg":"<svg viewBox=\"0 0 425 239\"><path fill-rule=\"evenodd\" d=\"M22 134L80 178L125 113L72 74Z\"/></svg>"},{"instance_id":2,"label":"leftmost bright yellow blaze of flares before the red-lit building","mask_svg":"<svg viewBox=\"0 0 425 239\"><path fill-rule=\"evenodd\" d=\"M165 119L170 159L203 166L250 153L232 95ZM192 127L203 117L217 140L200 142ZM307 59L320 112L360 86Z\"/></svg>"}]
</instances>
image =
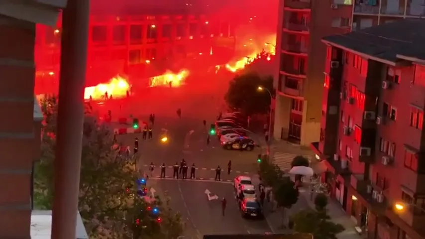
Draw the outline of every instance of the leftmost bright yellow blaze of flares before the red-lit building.
<instances>
[{"instance_id":1,"label":"leftmost bright yellow blaze of flares before the red-lit building","mask_svg":"<svg viewBox=\"0 0 425 239\"><path fill-rule=\"evenodd\" d=\"M92 97L93 100L105 100L106 93L114 99L124 98L130 85L127 80L120 76L113 77L107 84L99 84L97 86L86 87L84 90L84 99L88 100Z\"/></svg>"}]
</instances>

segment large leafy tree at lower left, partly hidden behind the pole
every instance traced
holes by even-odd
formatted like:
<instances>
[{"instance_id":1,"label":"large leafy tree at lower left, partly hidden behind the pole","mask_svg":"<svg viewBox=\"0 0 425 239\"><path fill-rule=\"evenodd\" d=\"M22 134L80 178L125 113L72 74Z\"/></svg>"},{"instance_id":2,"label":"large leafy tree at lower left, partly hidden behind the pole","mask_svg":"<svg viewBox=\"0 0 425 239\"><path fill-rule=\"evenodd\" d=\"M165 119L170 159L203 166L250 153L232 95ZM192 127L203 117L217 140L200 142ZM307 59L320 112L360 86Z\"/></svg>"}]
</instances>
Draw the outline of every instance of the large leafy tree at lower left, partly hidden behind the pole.
<instances>
[{"instance_id":1,"label":"large leafy tree at lower left, partly hidden behind the pole","mask_svg":"<svg viewBox=\"0 0 425 239\"><path fill-rule=\"evenodd\" d=\"M42 128L42 157L34 172L34 206L38 209L51 209L57 99L43 99L41 109L45 119ZM112 132L107 125L100 124L91 115L85 116L82 141L78 207L86 231L91 238L129 238L126 216L141 201L139 196L134 196L137 195L135 165L132 160L119 157L116 147L113 147ZM181 227L178 216L171 211L169 214L170 220L177 220L170 221L170 225ZM169 228L161 227L161 230Z\"/></svg>"}]
</instances>

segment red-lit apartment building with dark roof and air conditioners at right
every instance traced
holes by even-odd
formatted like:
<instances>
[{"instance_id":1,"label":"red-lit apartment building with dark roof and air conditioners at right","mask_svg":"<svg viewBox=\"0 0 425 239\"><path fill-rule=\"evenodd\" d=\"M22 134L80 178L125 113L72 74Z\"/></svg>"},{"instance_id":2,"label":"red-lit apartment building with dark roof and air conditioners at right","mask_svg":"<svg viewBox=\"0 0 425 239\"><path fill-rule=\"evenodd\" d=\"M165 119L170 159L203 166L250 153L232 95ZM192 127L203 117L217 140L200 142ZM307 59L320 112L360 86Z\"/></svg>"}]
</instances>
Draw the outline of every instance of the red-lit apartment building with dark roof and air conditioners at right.
<instances>
[{"instance_id":1,"label":"red-lit apartment building with dark roof and air conditioners at right","mask_svg":"<svg viewBox=\"0 0 425 239\"><path fill-rule=\"evenodd\" d=\"M425 19L323 38L330 194L371 239L425 238Z\"/></svg>"}]
</instances>

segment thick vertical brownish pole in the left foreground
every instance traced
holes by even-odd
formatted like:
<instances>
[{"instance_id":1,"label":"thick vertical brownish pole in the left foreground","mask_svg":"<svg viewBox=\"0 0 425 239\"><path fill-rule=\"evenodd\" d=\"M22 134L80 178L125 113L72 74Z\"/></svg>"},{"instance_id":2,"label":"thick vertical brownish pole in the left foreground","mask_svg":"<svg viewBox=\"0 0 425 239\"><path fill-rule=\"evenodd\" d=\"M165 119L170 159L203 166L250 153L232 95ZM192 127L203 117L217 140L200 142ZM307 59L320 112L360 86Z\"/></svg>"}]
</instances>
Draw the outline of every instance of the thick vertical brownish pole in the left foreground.
<instances>
[{"instance_id":1,"label":"thick vertical brownish pole in the left foreground","mask_svg":"<svg viewBox=\"0 0 425 239\"><path fill-rule=\"evenodd\" d=\"M68 0L62 14L52 239L76 239L90 0Z\"/></svg>"}]
</instances>

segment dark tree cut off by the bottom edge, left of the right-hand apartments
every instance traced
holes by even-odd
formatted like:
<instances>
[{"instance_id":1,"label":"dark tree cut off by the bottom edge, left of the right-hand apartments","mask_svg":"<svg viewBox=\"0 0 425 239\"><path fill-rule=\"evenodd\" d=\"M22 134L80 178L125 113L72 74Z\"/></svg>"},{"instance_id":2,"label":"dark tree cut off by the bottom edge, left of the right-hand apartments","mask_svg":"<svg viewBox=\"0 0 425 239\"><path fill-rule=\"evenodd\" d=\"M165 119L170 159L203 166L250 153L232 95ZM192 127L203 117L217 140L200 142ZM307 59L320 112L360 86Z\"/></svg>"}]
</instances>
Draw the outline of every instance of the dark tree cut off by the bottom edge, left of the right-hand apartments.
<instances>
[{"instance_id":1,"label":"dark tree cut off by the bottom edge, left of the right-hand apartments","mask_svg":"<svg viewBox=\"0 0 425 239\"><path fill-rule=\"evenodd\" d=\"M329 221L325 211L302 210L292 219L295 232L313 234L315 239L336 239L336 235L344 231L342 225Z\"/></svg>"}]
</instances>

